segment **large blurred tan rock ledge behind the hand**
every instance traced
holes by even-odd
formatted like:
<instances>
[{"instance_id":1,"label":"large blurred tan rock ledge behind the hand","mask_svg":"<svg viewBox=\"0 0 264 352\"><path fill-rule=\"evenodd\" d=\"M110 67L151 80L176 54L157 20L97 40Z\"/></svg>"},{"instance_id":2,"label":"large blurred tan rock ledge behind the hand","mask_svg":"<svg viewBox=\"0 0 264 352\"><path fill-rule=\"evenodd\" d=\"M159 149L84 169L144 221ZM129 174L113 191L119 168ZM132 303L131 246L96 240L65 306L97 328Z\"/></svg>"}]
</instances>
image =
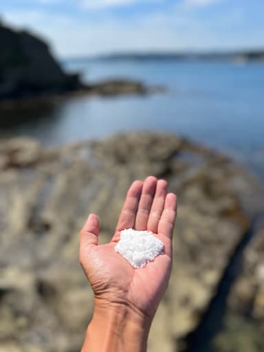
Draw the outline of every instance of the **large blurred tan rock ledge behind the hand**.
<instances>
[{"instance_id":1,"label":"large blurred tan rock ledge behind the hand","mask_svg":"<svg viewBox=\"0 0 264 352\"><path fill-rule=\"evenodd\" d=\"M78 265L78 231L98 212L109 241L126 189L147 175L177 192L173 273L149 340L175 352L206 311L248 229L254 182L228 158L169 135L117 135L47 150L0 144L0 350L79 351L93 294ZM250 185L250 186L249 186Z\"/></svg>"}]
</instances>

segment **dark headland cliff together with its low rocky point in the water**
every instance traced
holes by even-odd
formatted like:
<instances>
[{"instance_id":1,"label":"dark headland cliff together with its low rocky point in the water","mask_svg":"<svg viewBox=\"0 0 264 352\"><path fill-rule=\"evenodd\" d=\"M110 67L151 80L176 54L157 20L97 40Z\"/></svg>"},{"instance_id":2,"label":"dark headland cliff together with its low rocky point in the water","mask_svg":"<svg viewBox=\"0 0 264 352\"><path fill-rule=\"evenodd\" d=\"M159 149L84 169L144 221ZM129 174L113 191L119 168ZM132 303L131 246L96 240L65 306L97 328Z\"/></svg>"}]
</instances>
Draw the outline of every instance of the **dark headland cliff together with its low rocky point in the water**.
<instances>
[{"instance_id":1,"label":"dark headland cliff together with its low rocky point in the water","mask_svg":"<svg viewBox=\"0 0 264 352\"><path fill-rule=\"evenodd\" d=\"M14 31L0 23L0 100L54 96L80 91L85 94L145 94L133 80L83 84L78 74L66 74L42 39Z\"/></svg>"}]
</instances>

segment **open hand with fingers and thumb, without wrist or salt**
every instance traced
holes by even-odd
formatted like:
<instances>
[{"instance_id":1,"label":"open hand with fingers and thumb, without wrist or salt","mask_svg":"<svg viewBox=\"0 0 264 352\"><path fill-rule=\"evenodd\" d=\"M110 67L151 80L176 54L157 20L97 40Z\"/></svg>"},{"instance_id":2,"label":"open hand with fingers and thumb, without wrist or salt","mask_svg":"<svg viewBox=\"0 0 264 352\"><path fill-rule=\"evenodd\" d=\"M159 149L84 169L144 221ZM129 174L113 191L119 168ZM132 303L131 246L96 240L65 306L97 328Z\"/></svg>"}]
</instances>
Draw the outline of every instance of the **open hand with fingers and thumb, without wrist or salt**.
<instances>
[{"instance_id":1,"label":"open hand with fingers and thumb, without wrist or salt","mask_svg":"<svg viewBox=\"0 0 264 352\"><path fill-rule=\"evenodd\" d=\"M129 188L110 243L98 245L99 220L89 215L80 232L80 263L97 300L129 305L153 318L170 276L175 217L176 196L167 193L166 181L152 176ZM114 249L125 228L152 231L164 243L164 254L134 269Z\"/></svg>"}]
</instances>

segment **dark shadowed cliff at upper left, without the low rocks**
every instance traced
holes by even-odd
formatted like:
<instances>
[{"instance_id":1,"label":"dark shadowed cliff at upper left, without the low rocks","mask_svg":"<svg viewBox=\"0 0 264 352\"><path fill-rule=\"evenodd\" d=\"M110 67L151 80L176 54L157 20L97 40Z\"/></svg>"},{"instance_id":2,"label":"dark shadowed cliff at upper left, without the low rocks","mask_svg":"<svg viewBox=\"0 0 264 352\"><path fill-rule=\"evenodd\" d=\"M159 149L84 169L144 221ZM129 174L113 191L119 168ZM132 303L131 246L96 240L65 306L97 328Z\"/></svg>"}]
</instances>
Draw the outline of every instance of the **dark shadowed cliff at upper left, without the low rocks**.
<instances>
[{"instance_id":1,"label":"dark shadowed cliff at upper left, without the low rocks","mask_svg":"<svg viewBox=\"0 0 264 352\"><path fill-rule=\"evenodd\" d=\"M65 74L45 42L0 23L0 98L20 98L80 87L78 75Z\"/></svg>"}]
</instances>

